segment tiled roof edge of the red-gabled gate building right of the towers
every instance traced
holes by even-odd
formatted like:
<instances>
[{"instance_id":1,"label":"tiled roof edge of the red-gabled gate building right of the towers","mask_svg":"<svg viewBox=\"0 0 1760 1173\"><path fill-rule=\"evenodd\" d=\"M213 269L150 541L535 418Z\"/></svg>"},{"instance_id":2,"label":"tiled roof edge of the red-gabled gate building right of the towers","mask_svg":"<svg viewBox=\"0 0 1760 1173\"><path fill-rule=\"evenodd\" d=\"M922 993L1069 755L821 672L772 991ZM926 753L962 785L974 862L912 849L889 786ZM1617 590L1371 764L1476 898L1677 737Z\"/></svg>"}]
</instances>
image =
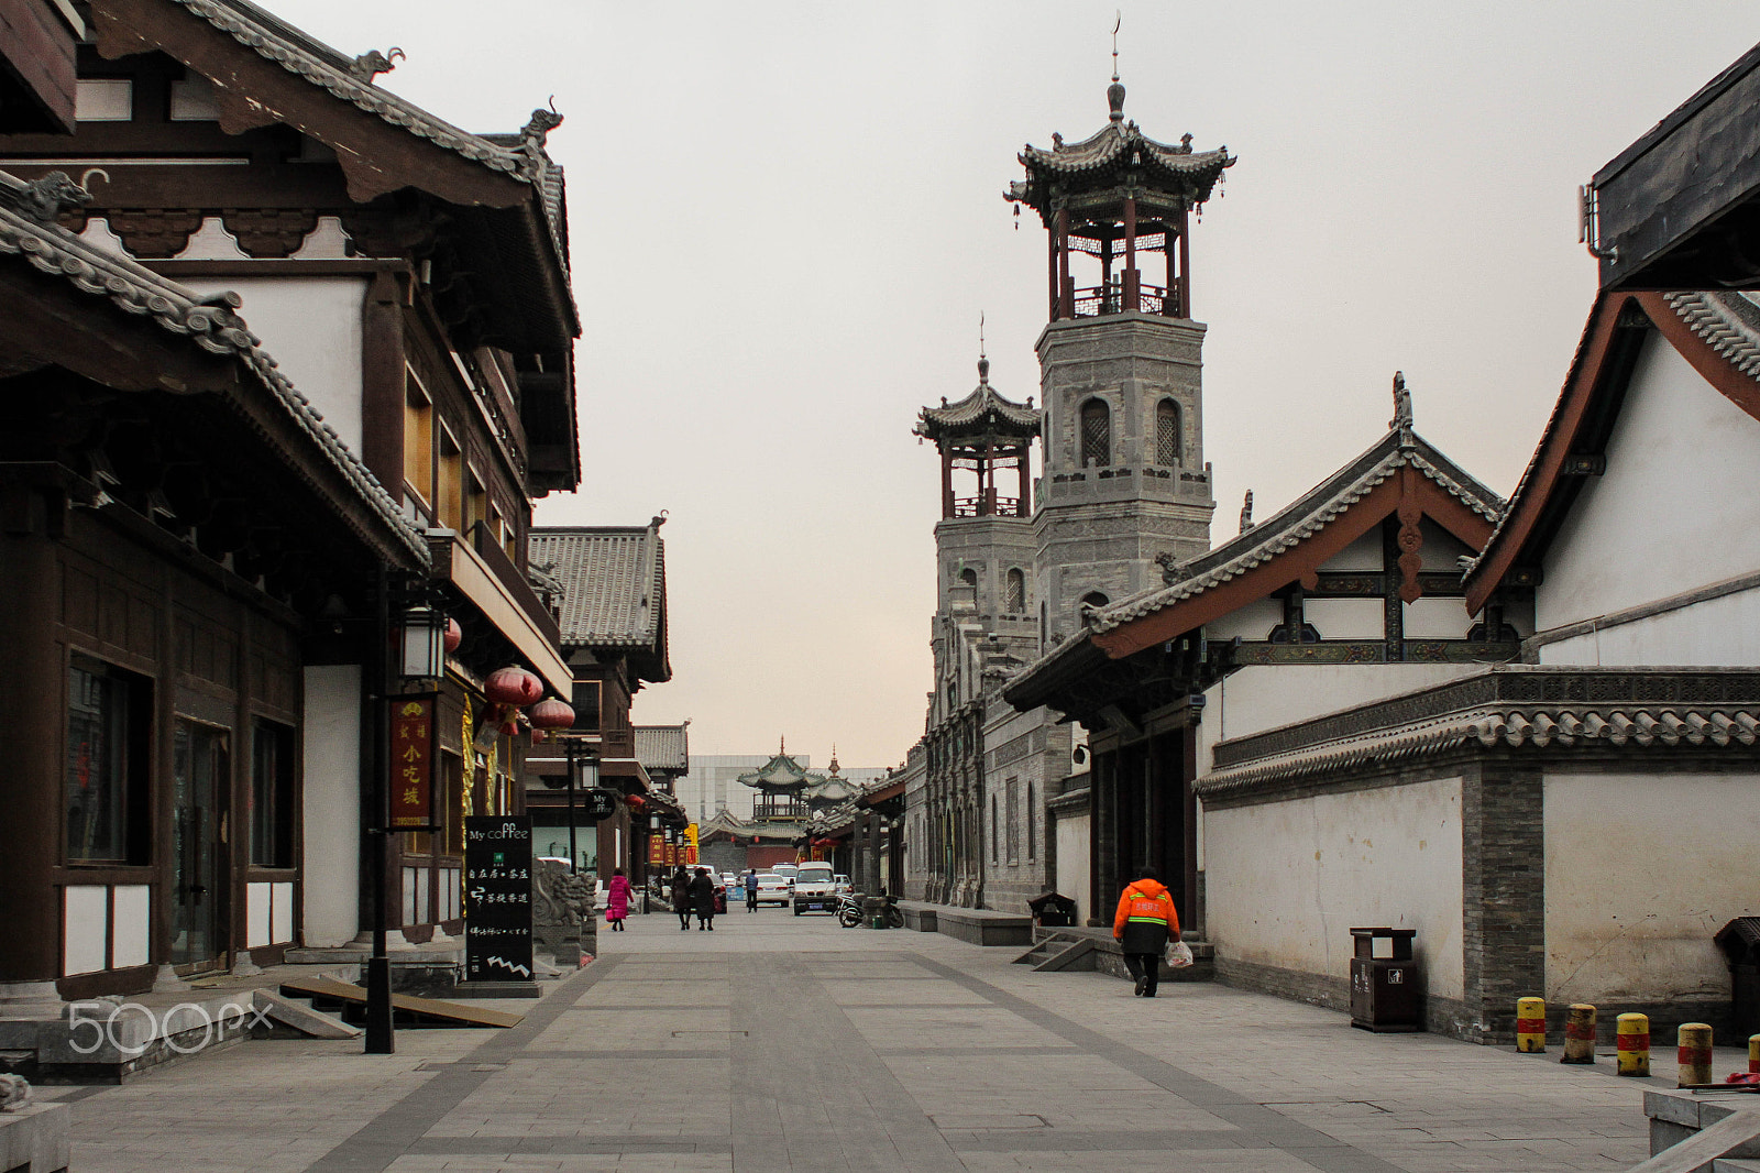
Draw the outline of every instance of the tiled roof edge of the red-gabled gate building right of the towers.
<instances>
[{"instance_id":1,"label":"tiled roof edge of the red-gabled gate building right of the towers","mask_svg":"<svg viewBox=\"0 0 1760 1173\"><path fill-rule=\"evenodd\" d=\"M1276 558L1324 530L1346 509L1362 500L1369 490L1396 476L1404 467L1434 481L1450 497L1487 521L1496 521L1503 509L1501 497L1461 470L1420 435L1410 428L1392 428L1375 447L1339 468L1272 518L1209 553L1174 567L1177 578L1172 583L1095 611L1089 631L1112 631L1114 627L1172 606L1181 599L1190 599L1232 578L1239 578L1246 571Z\"/></svg>"}]
</instances>

